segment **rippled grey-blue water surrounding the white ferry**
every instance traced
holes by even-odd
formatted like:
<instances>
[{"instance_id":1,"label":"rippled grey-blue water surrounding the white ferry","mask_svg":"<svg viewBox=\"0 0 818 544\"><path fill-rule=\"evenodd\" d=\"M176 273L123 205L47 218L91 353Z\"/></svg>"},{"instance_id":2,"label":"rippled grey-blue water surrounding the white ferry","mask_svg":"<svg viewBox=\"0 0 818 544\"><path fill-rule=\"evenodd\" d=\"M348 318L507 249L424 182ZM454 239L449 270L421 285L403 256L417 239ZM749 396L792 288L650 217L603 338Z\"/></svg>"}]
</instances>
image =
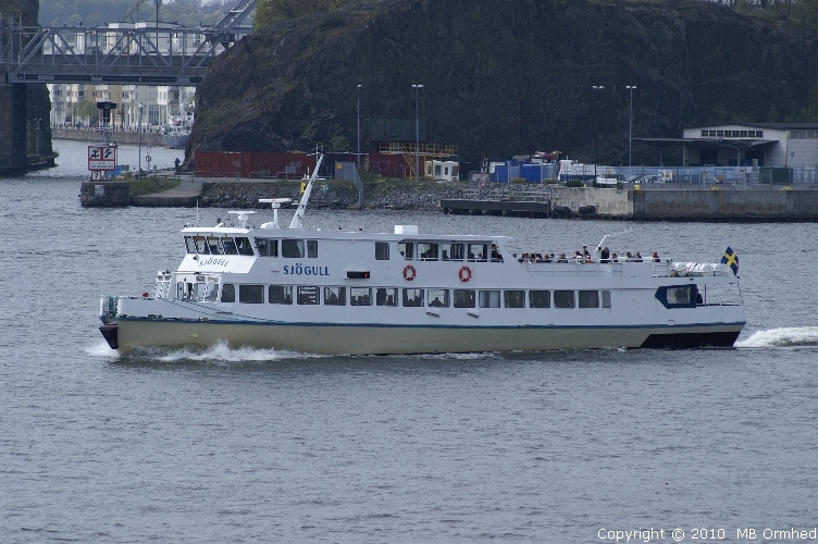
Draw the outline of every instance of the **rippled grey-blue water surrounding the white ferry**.
<instances>
[{"instance_id":1,"label":"rippled grey-blue water surrounding the white ferry","mask_svg":"<svg viewBox=\"0 0 818 544\"><path fill-rule=\"evenodd\" d=\"M731 245L736 349L123 358L97 331L98 297L150 290L196 211L82 209L85 145L57 147L59 169L0 178L0 542L608 542L600 529L652 527L763 542L816 524L811 224L306 217L505 233L534 251L611 231L612 250L679 260Z\"/></svg>"}]
</instances>

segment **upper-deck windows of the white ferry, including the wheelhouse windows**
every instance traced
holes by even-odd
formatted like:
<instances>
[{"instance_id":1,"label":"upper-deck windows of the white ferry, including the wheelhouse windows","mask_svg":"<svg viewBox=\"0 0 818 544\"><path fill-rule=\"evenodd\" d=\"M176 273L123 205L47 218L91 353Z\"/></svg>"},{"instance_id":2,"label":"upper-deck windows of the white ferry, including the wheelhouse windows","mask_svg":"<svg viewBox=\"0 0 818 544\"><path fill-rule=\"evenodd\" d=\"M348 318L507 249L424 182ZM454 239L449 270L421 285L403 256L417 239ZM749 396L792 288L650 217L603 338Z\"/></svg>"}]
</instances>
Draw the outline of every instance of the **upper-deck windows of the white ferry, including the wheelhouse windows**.
<instances>
[{"instance_id":1,"label":"upper-deck windows of the white ferry, including the wheelhouse windows","mask_svg":"<svg viewBox=\"0 0 818 544\"><path fill-rule=\"evenodd\" d=\"M185 236L188 254L197 255L255 255L249 238L232 236ZM256 238L256 249L260 257L284 257L286 259L318 258L318 240ZM487 242L474 244L400 242L397 245L401 259L419 261L472 261L501 262L497 247ZM375 242L375 260L389 260L389 244Z\"/></svg>"}]
</instances>

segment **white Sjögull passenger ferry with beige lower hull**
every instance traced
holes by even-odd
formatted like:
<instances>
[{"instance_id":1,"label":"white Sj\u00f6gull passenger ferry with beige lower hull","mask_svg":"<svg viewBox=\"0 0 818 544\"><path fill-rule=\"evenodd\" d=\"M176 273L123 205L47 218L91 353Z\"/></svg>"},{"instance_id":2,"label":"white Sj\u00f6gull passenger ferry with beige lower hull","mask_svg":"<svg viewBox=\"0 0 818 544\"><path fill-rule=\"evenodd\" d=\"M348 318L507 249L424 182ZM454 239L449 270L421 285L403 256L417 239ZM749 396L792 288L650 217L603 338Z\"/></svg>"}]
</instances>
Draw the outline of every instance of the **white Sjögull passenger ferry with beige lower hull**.
<instances>
[{"instance_id":1,"label":"white Sj\u00f6gull passenger ferry with beige lower hull","mask_svg":"<svg viewBox=\"0 0 818 544\"><path fill-rule=\"evenodd\" d=\"M319 159L320 164L321 159ZM314 354L732 346L745 324L723 264L517 259L509 238L305 228L318 168L289 228L186 226L186 255L141 296L103 296L120 351L226 343Z\"/></svg>"}]
</instances>

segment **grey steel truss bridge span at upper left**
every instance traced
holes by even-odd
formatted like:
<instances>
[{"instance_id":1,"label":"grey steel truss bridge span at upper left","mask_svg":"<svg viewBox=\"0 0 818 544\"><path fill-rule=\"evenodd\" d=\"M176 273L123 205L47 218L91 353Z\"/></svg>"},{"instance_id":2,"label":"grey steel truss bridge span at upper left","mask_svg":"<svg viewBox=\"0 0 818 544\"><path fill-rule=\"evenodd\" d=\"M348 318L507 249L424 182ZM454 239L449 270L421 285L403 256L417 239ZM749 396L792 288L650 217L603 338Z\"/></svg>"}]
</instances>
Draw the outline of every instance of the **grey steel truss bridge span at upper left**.
<instances>
[{"instance_id":1,"label":"grey steel truss bridge span at upper left","mask_svg":"<svg viewBox=\"0 0 818 544\"><path fill-rule=\"evenodd\" d=\"M46 27L0 21L0 69L10 84L196 85L220 52L252 32L241 23L255 5L256 0L240 0L210 27Z\"/></svg>"}]
</instances>

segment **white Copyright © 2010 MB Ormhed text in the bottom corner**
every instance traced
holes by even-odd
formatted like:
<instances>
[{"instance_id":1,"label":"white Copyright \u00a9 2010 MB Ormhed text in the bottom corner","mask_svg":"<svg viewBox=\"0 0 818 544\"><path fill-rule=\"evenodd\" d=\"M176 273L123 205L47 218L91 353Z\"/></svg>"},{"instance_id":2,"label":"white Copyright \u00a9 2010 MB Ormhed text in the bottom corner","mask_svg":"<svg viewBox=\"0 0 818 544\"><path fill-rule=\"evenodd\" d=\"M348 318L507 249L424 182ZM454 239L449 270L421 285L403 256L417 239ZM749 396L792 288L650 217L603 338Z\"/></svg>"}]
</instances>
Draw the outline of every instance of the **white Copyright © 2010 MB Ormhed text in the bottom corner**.
<instances>
[{"instance_id":1,"label":"white Copyright \u00a9 2010 MB Ormhed text in the bottom corner","mask_svg":"<svg viewBox=\"0 0 818 544\"><path fill-rule=\"evenodd\" d=\"M733 539L735 536L735 539ZM818 542L818 528L797 529L790 527L786 529L772 528L637 528L637 529L609 529L600 528L596 532L596 537L600 541L610 542L702 542L702 541L764 541L764 542L798 542L814 541Z\"/></svg>"}]
</instances>

